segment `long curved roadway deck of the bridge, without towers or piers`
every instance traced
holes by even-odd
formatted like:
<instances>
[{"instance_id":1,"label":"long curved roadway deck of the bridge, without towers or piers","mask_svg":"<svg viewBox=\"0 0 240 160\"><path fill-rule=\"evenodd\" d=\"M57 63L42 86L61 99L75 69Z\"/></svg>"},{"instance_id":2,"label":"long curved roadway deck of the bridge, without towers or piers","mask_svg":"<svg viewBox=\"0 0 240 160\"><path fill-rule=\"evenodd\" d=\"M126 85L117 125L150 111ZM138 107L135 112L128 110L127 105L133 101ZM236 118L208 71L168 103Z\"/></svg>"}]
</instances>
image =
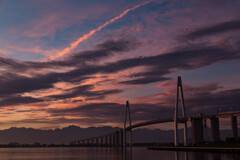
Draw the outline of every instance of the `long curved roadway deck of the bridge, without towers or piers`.
<instances>
[{"instance_id":1,"label":"long curved roadway deck of the bridge, without towers or piers","mask_svg":"<svg viewBox=\"0 0 240 160\"><path fill-rule=\"evenodd\" d=\"M240 111L235 111L235 112L224 112L224 113L217 113L217 114L209 114L209 115L196 115L196 116L187 116L187 117L179 117L178 121L179 123L181 122L185 122L185 121L191 121L192 119L202 119L202 118L225 118L225 117L232 117L232 116L239 116L240 115ZM174 122L174 118L162 118L162 119L156 119L156 120L150 120L150 121L145 121L145 122L141 122L141 123L137 123L134 124L132 126L128 126L126 127L126 130L132 130L135 128L139 128L139 127L144 127L144 126L148 126L148 125L153 125L153 124L159 124L159 123L167 123L167 122ZM115 135L117 133L123 132L123 129L119 129L117 131L114 132L110 132L101 136L96 136L96 137L91 137L91 138L85 138L85 139L81 139L81 140L76 140L71 142L71 144L80 144L81 142L84 141L90 141L90 140L94 140L94 139L100 139L100 138L104 138L107 136L111 136L111 135Z\"/></svg>"}]
</instances>

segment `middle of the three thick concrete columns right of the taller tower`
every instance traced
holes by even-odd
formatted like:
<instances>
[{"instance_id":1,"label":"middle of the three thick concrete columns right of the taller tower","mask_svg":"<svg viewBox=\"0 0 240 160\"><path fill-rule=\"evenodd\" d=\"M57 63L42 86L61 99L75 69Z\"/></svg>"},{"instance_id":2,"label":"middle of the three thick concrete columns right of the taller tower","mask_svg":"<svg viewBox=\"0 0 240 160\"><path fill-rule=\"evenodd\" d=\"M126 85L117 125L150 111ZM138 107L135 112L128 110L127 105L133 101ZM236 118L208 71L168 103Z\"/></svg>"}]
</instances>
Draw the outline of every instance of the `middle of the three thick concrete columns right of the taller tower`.
<instances>
[{"instance_id":1,"label":"middle of the three thick concrete columns right of the taller tower","mask_svg":"<svg viewBox=\"0 0 240 160\"><path fill-rule=\"evenodd\" d=\"M217 142L220 140L219 134L219 119L216 117L210 118L211 120L211 137L212 142Z\"/></svg>"}]
</instances>

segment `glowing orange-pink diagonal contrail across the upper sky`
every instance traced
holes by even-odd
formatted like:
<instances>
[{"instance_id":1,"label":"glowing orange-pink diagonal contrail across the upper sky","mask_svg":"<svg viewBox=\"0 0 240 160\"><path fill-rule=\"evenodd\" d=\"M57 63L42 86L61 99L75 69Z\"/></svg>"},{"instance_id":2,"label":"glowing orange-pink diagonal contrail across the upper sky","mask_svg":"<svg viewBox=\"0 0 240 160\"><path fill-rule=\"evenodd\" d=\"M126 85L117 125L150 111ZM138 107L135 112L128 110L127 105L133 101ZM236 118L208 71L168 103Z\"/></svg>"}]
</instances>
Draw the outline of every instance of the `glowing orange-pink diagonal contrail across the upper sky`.
<instances>
[{"instance_id":1,"label":"glowing orange-pink diagonal contrail across the upper sky","mask_svg":"<svg viewBox=\"0 0 240 160\"><path fill-rule=\"evenodd\" d=\"M132 8L129 8L129 9L123 11L119 16L117 16L117 17L115 17L115 18L113 18L113 19L105 22L103 25L99 26L98 28L91 30L89 33L84 34L82 37L78 38L78 40L76 40L75 42L72 42L69 47L64 48L64 49L62 50L62 52L58 53L56 56L52 56L51 59L56 59L56 58L59 58L59 57L65 55L65 54L69 53L71 50L73 50L74 48L76 48L76 47L79 45L79 43L81 43L82 41L88 39L89 37L91 37L92 35L94 35L97 31L100 31L101 29L103 29L103 28L106 27L107 25L109 25L109 24L115 22L116 20L122 18L122 17L125 16L128 12L133 11L133 10L135 10L135 9L141 7L141 6L144 6L144 5L146 5L146 4L148 4L148 3L152 2L152 1L153 1L153 0L146 1L146 2L144 2L144 3L141 3L141 4L136 5L135 7L132 7Z\"/></svg>"}]
</instances>

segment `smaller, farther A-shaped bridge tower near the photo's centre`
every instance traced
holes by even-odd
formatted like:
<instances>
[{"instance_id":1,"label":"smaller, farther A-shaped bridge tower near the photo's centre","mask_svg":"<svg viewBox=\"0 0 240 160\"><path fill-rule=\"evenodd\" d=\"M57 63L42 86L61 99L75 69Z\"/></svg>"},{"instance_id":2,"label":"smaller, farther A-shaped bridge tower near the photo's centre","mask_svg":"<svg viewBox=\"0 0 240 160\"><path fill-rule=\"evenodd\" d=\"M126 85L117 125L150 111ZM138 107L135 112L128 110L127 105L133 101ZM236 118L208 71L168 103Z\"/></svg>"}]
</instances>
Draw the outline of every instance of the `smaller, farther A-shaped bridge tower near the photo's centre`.
<instances>
[{"instance_id":1,"label":"smaller, farther A-shaped bridge tower near the photo's centre","mask_svg":"<svg viewBox=\"0 0 240 160\"><path fill-rule=\"evenodd\" d=\"M127 146L127 118L129 122L129 127L131 127L131 112L128 101L126 101L125 113L124 113L124 128L123 128L123 147ZM129 145L132 146L132 129L129 130Z\"/></svg>"}]
</instances>

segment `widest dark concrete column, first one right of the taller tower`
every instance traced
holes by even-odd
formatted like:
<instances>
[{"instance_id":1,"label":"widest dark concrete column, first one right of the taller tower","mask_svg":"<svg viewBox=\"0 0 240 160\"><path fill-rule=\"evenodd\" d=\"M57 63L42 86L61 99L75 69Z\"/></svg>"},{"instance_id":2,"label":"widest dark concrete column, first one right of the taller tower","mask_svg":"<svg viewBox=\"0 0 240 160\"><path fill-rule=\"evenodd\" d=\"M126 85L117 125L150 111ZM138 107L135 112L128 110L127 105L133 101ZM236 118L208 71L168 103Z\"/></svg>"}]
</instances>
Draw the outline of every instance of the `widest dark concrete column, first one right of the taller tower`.
<instances>
[{"instance_id":1,"label":"widest dark concrete column, first one right of the taller tower","mask_svg":"<svg viewBox=\"0 0 240 160\"><path fill-rule=\"evenodd\" d=\"M203 120L202 118L193 118L192 122L192 144L197 145L203 142Z\"/></svg>"}]
</instances>

